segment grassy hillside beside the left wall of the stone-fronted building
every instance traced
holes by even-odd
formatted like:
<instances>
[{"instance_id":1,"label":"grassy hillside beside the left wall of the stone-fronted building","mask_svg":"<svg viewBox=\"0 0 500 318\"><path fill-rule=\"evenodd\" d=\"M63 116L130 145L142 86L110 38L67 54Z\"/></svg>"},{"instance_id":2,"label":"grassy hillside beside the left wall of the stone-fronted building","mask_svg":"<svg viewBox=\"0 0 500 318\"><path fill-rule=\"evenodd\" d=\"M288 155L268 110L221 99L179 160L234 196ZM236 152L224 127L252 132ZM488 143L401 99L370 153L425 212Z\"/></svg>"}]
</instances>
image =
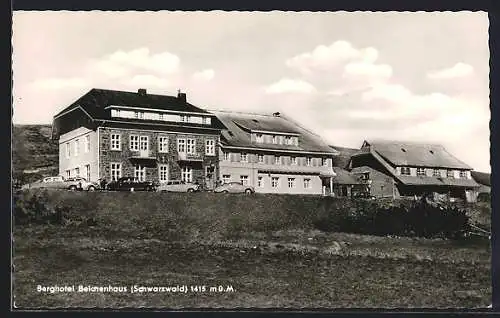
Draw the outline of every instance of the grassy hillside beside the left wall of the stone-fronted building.
<instances>
[{"instance_id":1,"label":"grassy hillside beside the left wall of the stone-fronted building","mask_svg":"<svg viewBox=\"0 0 500 318\"><path fill-rule=\"evenodd\" d=\"M50 125L12 127L12 172L22 183L58 172L58 145Z\"/></svg>"}]
</instances>

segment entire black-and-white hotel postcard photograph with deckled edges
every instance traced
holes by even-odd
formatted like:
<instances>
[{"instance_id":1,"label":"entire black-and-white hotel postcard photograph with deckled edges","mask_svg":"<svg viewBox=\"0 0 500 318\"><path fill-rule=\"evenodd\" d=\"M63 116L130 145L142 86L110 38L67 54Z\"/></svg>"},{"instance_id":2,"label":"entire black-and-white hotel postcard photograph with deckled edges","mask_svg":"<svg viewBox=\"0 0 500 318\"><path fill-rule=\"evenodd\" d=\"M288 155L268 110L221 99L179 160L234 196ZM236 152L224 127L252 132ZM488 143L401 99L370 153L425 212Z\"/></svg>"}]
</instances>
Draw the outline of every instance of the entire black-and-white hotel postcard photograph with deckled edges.
<instances>
[{"instance_id":1,"label":"entire black-and-white hotel postcard photograph with deckled edges","mask_svg":"<svg viewBox=\"0 0 500 318\"><path fill-rule=\"evenodd\" d=\"M488 27L14 11L12 308L491 308Z\"/></svg>"}]
</instances>

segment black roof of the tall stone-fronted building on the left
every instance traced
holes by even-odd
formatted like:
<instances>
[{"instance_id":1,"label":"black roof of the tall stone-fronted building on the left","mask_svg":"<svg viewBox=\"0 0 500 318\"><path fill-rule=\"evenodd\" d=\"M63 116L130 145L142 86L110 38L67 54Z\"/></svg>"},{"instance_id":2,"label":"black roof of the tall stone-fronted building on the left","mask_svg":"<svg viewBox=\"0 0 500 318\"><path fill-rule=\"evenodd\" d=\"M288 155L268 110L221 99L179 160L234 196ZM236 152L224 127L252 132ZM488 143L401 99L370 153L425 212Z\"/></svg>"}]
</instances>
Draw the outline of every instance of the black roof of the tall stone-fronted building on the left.
<instances>
[{"instance_id":1,"label":"black roof of the tall stone-fronted building on the left","mask_svg":"<svg viewBox=\"0 0 500 318\"><path fill-rule=\"evenodd\" d=\"M104 109L109 105L210 114L206 110L185 102L176 96L93 88L55 116L81 106L94 119L109 119L111 112Z\"/></svg>"}]
</instances>

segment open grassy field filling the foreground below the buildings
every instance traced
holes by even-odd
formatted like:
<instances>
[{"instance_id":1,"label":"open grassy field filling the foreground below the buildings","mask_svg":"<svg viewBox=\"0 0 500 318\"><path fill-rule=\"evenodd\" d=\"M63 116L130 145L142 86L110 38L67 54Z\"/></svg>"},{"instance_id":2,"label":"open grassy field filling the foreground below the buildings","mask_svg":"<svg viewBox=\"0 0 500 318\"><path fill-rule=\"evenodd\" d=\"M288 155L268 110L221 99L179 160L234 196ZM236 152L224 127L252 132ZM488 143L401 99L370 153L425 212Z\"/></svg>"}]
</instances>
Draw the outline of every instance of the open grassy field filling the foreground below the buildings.
<instances>
[{"instance_id":1,"label":"open grassy field filling the foreground below the buildings","mask_svg":"<svg viewBox=\"0 0 500 318\"><path fill-rule=\"evenodd\" d=\"M121 205L111 199L117 196ZM323 233L294 220L290 211L269 212L266 219L265 210L255 210L248 218L234 218L241 209L236 202L248 205L245 200L255 200L250 198L228 200L229 215L217 211L215 202L198 207L197 200L182 211L165 202L140 209L139 202L153 198L148 193L54 194L54 201L74 202L78 213L87 212L97 223L15 229L16 306L471 308L491 303L489 242ZM165 200L187 198L167 194ZM272 200L274 205L287 201ZM268 226L287 217L299 226ZM259 227L264 230L255 230ZM38 285L126 286L128 292L46 293L38 292ZM134 285L186 285L188 292L131 293ZM218 286L231 288L210 292Z\"/></svg>"}]
</instances>

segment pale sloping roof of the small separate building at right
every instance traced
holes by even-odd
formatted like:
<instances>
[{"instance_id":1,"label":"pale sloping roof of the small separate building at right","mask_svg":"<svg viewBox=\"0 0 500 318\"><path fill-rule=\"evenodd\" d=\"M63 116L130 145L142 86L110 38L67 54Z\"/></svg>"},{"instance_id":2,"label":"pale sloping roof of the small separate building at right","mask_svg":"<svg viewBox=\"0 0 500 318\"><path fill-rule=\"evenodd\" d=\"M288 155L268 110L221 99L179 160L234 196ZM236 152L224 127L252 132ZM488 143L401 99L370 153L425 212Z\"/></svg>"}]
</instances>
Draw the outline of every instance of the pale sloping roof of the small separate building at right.
<instances>
[{"instance_id":1,"label":"pale sloping roof of the small separate building at right","mask_svg":"<svg viewBox=\"0 0 500 318\"><path fill-rule=\"evenodd\" d=\"M367 141L367 143L373 151L394 166L472 170L441 145L398 141Z\"/></svg>"}]
</instances>

